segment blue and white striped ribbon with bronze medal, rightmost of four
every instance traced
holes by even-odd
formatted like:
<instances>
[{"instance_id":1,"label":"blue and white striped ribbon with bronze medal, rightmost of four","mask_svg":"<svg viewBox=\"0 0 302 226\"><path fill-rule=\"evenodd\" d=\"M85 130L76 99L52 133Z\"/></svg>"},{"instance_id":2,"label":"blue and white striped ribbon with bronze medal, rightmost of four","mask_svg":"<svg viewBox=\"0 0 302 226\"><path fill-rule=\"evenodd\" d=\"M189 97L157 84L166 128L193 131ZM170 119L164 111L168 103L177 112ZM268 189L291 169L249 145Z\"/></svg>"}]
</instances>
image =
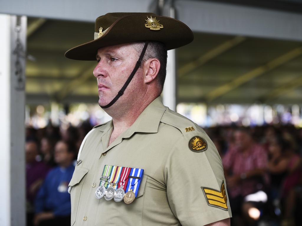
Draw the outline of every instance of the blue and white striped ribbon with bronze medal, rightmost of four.
<instances>
[{"instance_id":1,"label":"blue and white striped ribbon with bronze medal, rightmost of four","mask_svg":"<svg viewBox=\"0 0 302 226\"><path fill-rule=\"evenodd\" d=\"M130 175L129 175L129 181L126 187L126 194L124 196L124 202L126 204L130 204L133 202L135 197L137 197L138 190L140 188L140 182L143 177L144 170L139 168L132 168Z\"/></svg>"}]
</instances>

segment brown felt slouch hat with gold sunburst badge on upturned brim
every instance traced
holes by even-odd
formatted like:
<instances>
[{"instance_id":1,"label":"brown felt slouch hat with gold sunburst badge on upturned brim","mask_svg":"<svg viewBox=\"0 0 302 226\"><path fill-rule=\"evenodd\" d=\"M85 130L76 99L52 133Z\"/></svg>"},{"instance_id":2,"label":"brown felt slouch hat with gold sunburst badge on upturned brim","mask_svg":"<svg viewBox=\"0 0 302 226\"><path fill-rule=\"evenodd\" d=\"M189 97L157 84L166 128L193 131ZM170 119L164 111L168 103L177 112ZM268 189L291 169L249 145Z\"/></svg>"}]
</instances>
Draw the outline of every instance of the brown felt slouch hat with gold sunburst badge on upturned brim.
<instances>
[{"instance_id":1,"label":"brown felt slouch hat with gold sunburst badge on upturned brim","mask_svg":"<svg viewBox=\"0 0 302 226\"><path fill-rule=\"evenodd\" d=\"M107 13L95 20L95 40L69 49L74 60L95 60L101 47L135 41L163 42L167 48L184 46L194 39L191 29L179 20L153 13Z\"/></svg>"}]
</instances>

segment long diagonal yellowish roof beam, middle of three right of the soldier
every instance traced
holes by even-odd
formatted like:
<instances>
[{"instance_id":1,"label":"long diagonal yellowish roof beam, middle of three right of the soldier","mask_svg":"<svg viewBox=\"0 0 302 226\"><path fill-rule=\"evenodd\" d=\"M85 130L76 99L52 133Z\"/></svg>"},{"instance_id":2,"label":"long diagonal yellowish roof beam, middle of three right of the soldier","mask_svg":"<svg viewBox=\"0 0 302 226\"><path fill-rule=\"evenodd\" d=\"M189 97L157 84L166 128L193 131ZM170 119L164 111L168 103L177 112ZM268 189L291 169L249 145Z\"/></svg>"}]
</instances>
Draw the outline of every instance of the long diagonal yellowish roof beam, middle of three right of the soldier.
<instances>
[{"instance_id":1,"label":"long diagonal yellowish roof beam, middle of three right of the soldier","mask_svg":"<svg viewBox=\"0 0 302 226\"><path fill-rule=\"evenodd\" d=\"M234 80L217 87L216 89L207 93L206 99L208 102L211 102L214 99L216 99L217 97L220 97L223 94L230 92L231 90L243 85L244 83L247 83L256 77L259 77L259 76L265 74L266 72L271 71L272 69L296 58L297 56L300 56L301 54L302 54L302 47L295 48L295 49L269 61L268 63L266 63L262 66L256 67L256 68L252 69L251 71L248 71L247 73L244 73L244 74L236 77Z\"/></svg>"}]
</instances>

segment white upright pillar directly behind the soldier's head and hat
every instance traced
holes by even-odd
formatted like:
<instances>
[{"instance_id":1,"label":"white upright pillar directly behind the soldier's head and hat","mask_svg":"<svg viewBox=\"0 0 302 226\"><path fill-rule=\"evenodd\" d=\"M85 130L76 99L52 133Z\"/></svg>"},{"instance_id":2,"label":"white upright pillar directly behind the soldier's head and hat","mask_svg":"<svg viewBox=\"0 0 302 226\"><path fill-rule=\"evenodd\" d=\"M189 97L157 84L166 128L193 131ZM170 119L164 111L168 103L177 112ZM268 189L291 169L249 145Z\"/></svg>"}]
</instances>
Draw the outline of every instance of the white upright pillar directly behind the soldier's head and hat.
<instances>
[{"instance_id":1,"label":"white upright pillar directly behind the soldier's head and hat","mask_svg":"<svg viewBox=\"0 0 302 226\"><path fill-rule=\"evenodd\" d=\"M175 17L174 8L169 9L169 17ZM168 51L167 75L164 89L162 91L162 102L171 110L176 111L176 68L175 49Z\"/></svg>"}]
</instances>

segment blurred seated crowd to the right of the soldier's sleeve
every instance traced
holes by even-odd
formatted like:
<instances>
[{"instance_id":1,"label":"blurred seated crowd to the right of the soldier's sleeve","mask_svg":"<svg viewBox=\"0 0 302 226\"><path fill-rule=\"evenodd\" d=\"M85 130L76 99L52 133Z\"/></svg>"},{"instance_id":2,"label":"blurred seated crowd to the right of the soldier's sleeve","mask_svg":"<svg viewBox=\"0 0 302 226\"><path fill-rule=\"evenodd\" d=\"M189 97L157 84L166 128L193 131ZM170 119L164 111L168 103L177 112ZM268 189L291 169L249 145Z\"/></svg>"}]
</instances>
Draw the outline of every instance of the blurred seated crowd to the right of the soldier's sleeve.
<instances>
[{"instance_id":1,"label":"blurred seated crowd to the right of the soldier's sleeve","mask_svg":"<svg viewBox=\"0 0 302 226\"><path fill-rule=\"evenodd\" d=\"M302 129L292 125L214 127L232 226L302 225Z\"/></svg>"}]
</instances>

